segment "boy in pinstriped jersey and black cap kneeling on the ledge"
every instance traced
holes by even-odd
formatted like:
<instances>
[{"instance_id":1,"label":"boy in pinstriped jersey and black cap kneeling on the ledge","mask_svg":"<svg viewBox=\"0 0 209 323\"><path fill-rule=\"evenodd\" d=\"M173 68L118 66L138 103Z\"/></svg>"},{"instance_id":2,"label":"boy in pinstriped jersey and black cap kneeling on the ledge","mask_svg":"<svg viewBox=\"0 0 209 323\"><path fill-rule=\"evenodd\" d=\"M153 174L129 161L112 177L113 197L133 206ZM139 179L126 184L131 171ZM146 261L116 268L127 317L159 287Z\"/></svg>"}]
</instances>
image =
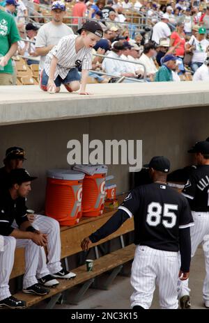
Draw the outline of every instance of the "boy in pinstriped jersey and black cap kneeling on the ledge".
<instances>
[{"instance_id":1,"label":"boy in pinstriped jersey and black cap kneeling on the ledge","mask_svg":"<svg viewBox=\"0 0 209 323\"><path fill-rule=\"evenodd\" d=\"M68 92L79 90L86 92L88 70L91 70L92 48L103 36L98 22L88 21L77 31L79 36L70 35L61 38L58 45L47 54L44 70L40 74L40 88L49 93L60 91L61 84ZM78 68L82 67L82 79Z\"/></svg>"}]
</instances>

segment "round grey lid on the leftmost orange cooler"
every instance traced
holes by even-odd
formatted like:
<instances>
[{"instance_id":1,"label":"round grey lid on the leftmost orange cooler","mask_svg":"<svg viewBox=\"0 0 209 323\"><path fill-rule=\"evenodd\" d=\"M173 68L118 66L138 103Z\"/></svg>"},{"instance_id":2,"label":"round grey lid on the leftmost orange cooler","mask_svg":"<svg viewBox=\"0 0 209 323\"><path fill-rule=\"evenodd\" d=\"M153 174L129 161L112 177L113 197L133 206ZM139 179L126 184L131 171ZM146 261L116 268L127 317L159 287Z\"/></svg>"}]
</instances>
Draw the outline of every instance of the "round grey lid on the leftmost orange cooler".
<instances>
[{"instance_id":1,"label":"round grey lid on the leftmost orange cooler","mask_svg":"<svg viewBox=\"0 0 209 323\"><path fill-rule=\"evenodd\" d=\"M83 180L85 174L72 169L49 169L47 178L55 178L56 180Z\"/></svg>"}]
</instances>

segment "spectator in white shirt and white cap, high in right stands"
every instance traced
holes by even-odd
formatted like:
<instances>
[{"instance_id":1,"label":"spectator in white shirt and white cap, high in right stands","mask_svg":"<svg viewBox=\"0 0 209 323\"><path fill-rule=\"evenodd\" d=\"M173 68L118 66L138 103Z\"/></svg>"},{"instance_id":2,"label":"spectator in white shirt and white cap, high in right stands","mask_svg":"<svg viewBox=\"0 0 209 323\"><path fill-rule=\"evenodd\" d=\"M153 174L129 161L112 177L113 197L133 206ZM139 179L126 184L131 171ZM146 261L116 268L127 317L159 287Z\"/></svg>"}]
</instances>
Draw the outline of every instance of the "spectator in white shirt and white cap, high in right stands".
<instances>
[{"instance_id":1,"label":"spectator in white shirt and white cap, high in right stands","mask_svg":"<svg viewBox=\"0 0 209 323\"><path fill-rule=\"evenodd\" d=\"M157 45L160 43L161 38L169 38L171 36L171 29L169 29L168 22L169 15L164 13L161 22L157 22L157 24L153 26L152 40L156 42Z\"/></svg>"}]
</instances>

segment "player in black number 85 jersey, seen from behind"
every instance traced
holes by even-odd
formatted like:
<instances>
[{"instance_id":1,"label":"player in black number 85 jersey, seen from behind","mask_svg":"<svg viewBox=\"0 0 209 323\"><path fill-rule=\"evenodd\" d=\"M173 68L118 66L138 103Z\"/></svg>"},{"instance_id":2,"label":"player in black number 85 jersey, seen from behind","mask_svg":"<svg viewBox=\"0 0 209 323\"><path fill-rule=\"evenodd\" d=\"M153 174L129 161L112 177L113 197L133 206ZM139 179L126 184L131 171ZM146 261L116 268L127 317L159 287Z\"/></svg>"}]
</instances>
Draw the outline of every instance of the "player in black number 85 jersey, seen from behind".
<instances>
[{"instance_id":1,"label":"player in black number 85 jersey, seen from behind","mask_svg":"<svg viewBox=\"0 0 209 323\"><path fill-rule=\"evenodd\" d=\"M155 282L159 285L161 308L176 309L178 276L182 280L189 276L189 228L194 223L187 199L167 185L169 159L153 157L148 168L153 183L134 189L114 216L82 241L82 249L86 250L91 242L107 237L134 216L134 243L137 248L131 275L134 287L132 309L150 308Z\"/></svg>"}]
</instances>

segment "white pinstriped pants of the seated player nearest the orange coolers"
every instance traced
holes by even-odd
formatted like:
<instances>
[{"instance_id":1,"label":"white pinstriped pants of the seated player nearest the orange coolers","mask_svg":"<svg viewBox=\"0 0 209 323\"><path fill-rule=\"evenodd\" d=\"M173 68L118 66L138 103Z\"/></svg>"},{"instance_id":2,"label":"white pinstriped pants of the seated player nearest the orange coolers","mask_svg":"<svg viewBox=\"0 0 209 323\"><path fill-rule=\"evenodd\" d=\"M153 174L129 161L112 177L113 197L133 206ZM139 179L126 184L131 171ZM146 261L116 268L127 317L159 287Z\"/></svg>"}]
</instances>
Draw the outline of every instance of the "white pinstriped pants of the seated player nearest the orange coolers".
<instances>
[{"instance_id":1,"label":"white pinstriped pants of the seated player nearest the orange coolers","mask_svg":"<svg viewBox=\"0 0 209 323\"><path fill-rule=\"evenodd\" d=\"M61 239L59 222L49 216L35 214L35 219L31 224L41 233L47 235L47 258L45 250L40 248L38 257L37 278L42 278L48 274L55 274L62 269L61 267ZM13 227L18 228L17 223L13 222ZM47 262L48 260L48 262ZM47 262L47 263L46 263Z\"/></svg>"}]
</instances>

